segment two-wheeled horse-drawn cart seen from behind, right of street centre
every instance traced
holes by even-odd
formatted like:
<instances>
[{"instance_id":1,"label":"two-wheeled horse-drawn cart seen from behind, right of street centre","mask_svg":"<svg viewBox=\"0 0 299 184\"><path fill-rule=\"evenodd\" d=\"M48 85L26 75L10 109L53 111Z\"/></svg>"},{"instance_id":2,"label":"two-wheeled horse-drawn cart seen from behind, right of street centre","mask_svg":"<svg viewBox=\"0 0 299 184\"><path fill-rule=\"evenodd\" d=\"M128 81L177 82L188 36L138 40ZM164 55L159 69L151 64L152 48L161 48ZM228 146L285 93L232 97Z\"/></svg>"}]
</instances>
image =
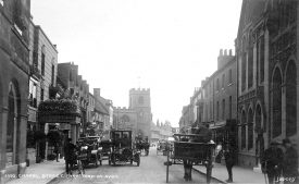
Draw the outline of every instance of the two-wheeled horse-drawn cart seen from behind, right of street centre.
<instances>
[{"instance_id":1,"label":"two-wheeled horse-drawn cart seen from behind, right of street centre","mask_svg":"<svg viewBox=\"0 0 299 184\"><path fill-rule=\"evenodd\" d=\"M166 182L169 182L169 167L172 164L184 164L185 180L191 180L188 174L192 165L204 165L207 168L207 183L211 181L212 154L215 144L198 134L174 134L175 140L167 143ZM187 176L186 176L187 172Z\"/></svg>"}]
</instances>

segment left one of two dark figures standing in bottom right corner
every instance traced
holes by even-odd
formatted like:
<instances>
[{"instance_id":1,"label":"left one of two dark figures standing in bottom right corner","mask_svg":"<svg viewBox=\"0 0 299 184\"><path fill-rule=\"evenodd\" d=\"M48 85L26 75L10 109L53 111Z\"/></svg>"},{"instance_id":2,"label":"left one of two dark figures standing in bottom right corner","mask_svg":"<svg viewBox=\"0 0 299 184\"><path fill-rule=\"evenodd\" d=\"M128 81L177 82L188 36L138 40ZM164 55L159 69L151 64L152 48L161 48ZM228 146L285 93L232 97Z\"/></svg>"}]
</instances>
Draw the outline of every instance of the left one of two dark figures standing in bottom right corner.
<instances>
[{"instance_id":1,"label":"left one of two dark figures standing in bottom right corner","mask_svg":"<svg viewBox=\"0 0 299 184\"><path fill-rule=\"evenodd\" d=\"M269 184L279 183L284 152L278 148L278 143L273 140L262 157L262 171L267 174Z\"/></svg>"}]
</instances>

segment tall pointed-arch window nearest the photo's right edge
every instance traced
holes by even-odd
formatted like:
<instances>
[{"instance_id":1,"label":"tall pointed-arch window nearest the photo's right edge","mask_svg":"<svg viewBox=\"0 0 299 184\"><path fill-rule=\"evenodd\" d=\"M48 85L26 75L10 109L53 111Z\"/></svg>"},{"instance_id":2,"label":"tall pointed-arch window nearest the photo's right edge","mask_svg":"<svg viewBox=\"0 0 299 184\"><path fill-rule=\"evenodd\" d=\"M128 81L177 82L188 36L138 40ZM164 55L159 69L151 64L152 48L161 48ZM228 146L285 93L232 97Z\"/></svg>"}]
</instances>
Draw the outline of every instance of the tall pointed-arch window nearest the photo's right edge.
<instances>
[{"instance_id":1,"label":"tall pointed-arch window nearest the photo's right edge","mask_svg":"<svg viewBox=\"0 0 299 184\"><path fill-rule=\"evenodd\" d=\"M297 132L297 72L296 64L290 61L286 70L286 136Z\"/></svg>"}]
</instances>

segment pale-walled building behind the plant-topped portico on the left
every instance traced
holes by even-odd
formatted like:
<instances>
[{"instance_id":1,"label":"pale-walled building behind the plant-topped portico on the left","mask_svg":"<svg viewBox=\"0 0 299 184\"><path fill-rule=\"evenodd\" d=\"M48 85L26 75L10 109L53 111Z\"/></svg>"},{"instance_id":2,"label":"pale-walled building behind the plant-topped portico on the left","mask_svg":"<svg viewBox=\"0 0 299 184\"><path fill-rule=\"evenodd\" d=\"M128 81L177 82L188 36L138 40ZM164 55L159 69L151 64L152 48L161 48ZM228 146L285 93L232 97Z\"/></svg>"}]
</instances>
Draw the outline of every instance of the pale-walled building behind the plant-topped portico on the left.
<instances>
[{"instance_id":1,"label":"pale-walled building behind the plant-topped portico on the left","mask_svg":"<svg viewBox=\"0 0 299 184\"><path fill-rule=\"evenodd\" d=\"M40 101L50 98L50 88L57 85L58 50L47 37L40 26L30 20L29 24L29 95L28 95L28 124L27 131L35 132L42 126L47 134L49 125L37 122L37 107ZM32 149L33 148L33 149ZM27 144L28 159L35 162L35 145ZM41 154L42 159L47 154Z\"/></svg>"}]
</instances>

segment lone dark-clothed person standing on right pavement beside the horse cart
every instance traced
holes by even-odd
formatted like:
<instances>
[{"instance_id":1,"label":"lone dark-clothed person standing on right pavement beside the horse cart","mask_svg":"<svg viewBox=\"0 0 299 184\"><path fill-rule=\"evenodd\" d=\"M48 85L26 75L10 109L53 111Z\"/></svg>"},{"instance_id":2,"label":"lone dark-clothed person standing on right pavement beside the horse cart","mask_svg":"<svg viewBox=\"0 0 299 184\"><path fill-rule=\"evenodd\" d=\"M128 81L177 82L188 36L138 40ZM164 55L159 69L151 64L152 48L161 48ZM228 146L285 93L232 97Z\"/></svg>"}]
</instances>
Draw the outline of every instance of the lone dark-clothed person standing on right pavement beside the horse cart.
<instances>
[{"instance_id":1,"label":"lone dark-clothed person standing on right pavement beside the horse cart","mask_svg":"<svg viewBox=\"0 0 299 184\"><path fill-rule=\"evenodd\" d=\"M235 148L226 144L224 149L224 158L225 158L225 165L228 173L228 179L226 180L227 183L233 183L233 167L235 165Z\"/></svg>"}]
</instances>

